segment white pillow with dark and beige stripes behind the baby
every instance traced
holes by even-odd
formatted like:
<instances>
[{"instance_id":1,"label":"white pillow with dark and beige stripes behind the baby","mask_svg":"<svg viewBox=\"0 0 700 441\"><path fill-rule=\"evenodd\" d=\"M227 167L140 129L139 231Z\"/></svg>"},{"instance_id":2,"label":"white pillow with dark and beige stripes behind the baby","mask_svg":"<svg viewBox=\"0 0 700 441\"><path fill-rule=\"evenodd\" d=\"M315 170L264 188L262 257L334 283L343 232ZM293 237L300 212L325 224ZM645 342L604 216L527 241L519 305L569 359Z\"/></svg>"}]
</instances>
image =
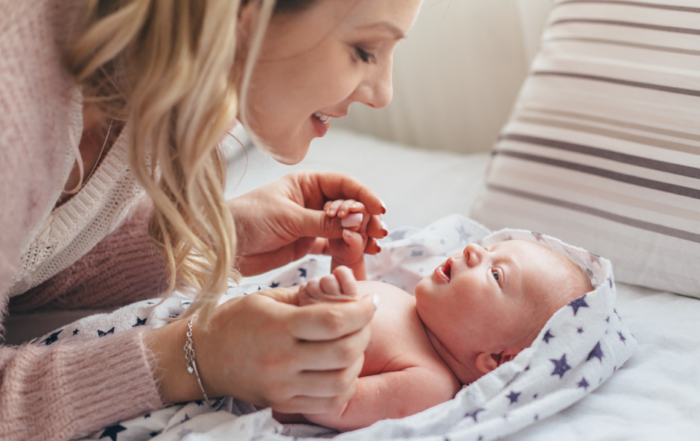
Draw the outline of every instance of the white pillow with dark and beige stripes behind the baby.
<instances>
[{"instance_id":1,"label":"white pillow with dark and beige stripes behind the baby","mask_svg":"<svg viewBox=\"0 0 700 441\"><path fill-rule=\"evenodd\" d=\"M700 297L700 0L558 0L472 216Z\"/></svg>"}]
</instances>

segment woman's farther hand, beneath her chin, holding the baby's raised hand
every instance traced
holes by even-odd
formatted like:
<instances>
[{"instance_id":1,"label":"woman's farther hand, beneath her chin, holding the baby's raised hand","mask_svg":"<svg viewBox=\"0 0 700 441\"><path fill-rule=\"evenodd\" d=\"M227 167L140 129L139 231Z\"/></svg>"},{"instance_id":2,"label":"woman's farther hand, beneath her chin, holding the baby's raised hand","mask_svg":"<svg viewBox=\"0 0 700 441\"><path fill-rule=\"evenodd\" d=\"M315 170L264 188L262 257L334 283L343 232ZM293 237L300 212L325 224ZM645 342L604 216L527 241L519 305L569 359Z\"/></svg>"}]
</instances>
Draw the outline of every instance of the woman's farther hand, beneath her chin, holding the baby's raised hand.
<instances>
[{"instance_id":1,"label":"woman's farther hand, beneath her chin, holding the baby's raised hand","mask_svg":"<svg viewBox=\"0 0 700 441\"><path fill-rule=\"evenodd\" d=\"M236 222L241 273L261 274L328 249L327 239L342 237L341 222L347 216L329 217L323 211L326 202L337 199L365 206L371 215L365 253L379 252L376 239L388 234L380 217L386 209L372 190L340 173L294 172L228 202Z\"/></svg>"}]
</instances>

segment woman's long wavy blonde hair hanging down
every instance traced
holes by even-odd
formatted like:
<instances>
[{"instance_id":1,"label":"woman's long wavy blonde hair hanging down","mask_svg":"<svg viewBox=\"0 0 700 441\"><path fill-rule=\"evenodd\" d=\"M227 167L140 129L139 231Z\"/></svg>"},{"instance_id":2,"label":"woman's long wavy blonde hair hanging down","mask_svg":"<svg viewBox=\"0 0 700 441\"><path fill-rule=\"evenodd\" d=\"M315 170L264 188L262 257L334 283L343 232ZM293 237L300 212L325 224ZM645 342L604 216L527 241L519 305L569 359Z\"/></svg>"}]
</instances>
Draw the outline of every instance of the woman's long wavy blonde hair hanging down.
<instances>
[{"instance_id":1,"label":"woman's long wavy blonde hair hanging down","mask_svg":"<svg viewBox=\"0 0 700 441\"><path fill-rule=\"evenodd\" d=\"M149 235L164 256L166 296L196 293L184 317L205 322L228 279L240 278L218 146L245 107L275 8L275 0L258 3L255 32L241 50L241 0L86 0L66 54L84 100L129 123L129 162L153 199Z\"/></svg>"}]
</instances>

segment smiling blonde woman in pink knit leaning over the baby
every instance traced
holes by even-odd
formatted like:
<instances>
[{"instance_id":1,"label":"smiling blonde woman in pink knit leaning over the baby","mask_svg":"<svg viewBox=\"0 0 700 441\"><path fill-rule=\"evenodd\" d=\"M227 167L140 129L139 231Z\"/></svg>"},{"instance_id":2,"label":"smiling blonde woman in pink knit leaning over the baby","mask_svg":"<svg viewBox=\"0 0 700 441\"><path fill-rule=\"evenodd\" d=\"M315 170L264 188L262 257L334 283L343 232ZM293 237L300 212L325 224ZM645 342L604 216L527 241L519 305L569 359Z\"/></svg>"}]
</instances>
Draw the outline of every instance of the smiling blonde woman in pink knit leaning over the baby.
<instances>
[{"instance_id":1,"label":"smiling blonde woman in pink knit leaning over the baby","mask_svg":"<svg viewBox=\"0 0 700 441\"><path fill-rule=\"evenodd\" d=\"M195 293L190 317L150 333L3 347L3 439L72 438L205 393L287 413L347 402L371 298L300 308L273 290L214 305L229 277L340 237L327 200L363 202L384 237L381 202L333 173L224 201L216 146L237 118L294 164L351 103L387 105L419 4L0 0L0 299L29 311Z\"/></svg>"}]
</instances>

